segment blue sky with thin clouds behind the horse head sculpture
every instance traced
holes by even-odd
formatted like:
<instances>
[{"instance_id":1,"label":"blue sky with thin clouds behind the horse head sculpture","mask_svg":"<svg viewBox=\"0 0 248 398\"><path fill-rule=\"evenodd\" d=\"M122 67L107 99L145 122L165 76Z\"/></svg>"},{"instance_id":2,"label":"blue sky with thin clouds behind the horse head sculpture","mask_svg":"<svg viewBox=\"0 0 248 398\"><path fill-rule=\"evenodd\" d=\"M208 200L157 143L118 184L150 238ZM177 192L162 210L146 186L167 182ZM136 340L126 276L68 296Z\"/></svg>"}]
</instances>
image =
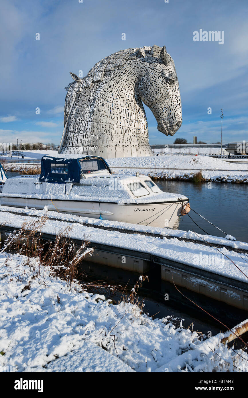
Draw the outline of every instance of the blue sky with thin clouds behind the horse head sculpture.
<instances>
[{"instance_id":1,"label":"blue sky with thin clouds behind the horse head sculpture","mask_svg":"<svg viewBox=\"0 0 248 398\"><path fill-rule=\"evenodd\" d=\"M219 141L221 107L223 142L248 140L247 0L1 0L1 10L1 142L59 143L69 72L85 76L115 51L154 44L174 59L183 123L166 137L145 107L150 144ZM193 41L199 29L224 31L224 44Z\"/></svg>"}]
</instances>

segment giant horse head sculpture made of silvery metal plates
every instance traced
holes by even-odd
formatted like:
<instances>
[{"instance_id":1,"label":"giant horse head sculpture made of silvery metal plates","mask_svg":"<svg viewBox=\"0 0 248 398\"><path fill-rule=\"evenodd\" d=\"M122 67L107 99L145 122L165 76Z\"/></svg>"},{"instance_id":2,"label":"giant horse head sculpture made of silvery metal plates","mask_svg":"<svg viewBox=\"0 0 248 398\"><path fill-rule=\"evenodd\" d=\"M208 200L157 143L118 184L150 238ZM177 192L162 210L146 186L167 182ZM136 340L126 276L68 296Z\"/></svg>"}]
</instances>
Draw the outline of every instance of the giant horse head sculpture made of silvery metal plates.
<instances>
[{"instance_id":1,"label":"giant horse head sculpture made of silvery metal plates","mask_svg":"<svg viewBox=\"0 0 248 398\"><path fill-rule=\"evenodd\" d=\"M59 153L152 156L143 103L161 133L174 135L182 124L178 78L165 47L118 51L86 77L71 76Z\"/></svg>"}]
</instances>

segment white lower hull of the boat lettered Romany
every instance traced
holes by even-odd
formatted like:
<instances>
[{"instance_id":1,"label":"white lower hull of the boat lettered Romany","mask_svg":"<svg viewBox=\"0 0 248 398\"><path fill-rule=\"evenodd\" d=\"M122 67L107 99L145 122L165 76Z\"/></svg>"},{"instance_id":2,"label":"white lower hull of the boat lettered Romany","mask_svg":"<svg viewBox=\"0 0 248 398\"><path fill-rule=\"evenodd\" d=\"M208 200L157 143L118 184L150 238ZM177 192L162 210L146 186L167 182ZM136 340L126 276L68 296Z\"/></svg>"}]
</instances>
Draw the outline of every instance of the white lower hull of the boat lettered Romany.
<instances>
[{"instance_id":1,"label":"white lower hull of the boat lettered Romany","mask_svg":"<svg viewBox=\"0 0 248 398\"><path fill-rule=\"evenodd\" d=\"M184 199L184 203L187 200ZM82 217L92 217L103 220L128 222L131 224L150 225L160 228L173 228L182 205L178 201L145 204L118 204L109 202L73 201L58 199L34 199L23 197L3 196L0 198L2 206L29 207L48 211L58 211Z\"/></svg>"}]
</instances>

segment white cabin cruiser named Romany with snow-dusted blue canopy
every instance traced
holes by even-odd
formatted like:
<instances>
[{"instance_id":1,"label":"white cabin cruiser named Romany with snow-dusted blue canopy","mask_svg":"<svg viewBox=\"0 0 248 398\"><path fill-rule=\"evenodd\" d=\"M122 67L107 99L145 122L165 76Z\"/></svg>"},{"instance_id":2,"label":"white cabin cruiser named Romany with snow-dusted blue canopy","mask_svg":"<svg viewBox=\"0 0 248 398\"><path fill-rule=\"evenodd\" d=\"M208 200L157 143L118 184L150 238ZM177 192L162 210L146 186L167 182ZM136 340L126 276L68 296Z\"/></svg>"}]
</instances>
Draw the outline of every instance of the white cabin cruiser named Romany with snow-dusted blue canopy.
<instances>
[{"instance_id":1,"label":"white cabin cruiser named Romany with snow-dusted blue canopy","mask_svg":"<svg viewBox=\"0 0 248 398\"><path fill-rule=\"evenodd\" d=\"M89 155L43 156L40 176L6 180L0 204L168 228L189 211L186 196L163 192L138 172L112 174Z\"/></svg>"}]
</instances>

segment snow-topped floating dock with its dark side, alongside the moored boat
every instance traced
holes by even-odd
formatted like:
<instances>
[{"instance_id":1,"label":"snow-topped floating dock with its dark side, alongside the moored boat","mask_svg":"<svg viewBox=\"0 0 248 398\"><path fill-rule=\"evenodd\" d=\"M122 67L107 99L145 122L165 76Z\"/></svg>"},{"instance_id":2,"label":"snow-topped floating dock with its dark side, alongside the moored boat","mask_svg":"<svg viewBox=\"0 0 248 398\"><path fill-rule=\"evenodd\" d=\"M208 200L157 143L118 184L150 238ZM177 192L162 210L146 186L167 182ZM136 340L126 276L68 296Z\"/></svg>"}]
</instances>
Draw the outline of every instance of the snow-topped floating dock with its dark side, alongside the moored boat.
<instances>
[{"instance_id":1,"label":"snow-topped floating dock with its dark side, alongside the moored boat","mask_svg":"<svg viewBox=\"0 0 248 398\"><path fill-rule=\"evenodd\" d=\"M10 231L21 228L23 222L31 223L45 213L45 210L0 207L1 240ZM180 287L248 310L246 242L53 211L47 216L49 218L41 230L43 238L54 239L70 225L69 236L76 244L78 242L80 246L80 241L87 238L90 246L95 248L88 261L137 275L149 273L156 265L160 270L161 285L174 281Z\"/></svg>"}]
</instances>

